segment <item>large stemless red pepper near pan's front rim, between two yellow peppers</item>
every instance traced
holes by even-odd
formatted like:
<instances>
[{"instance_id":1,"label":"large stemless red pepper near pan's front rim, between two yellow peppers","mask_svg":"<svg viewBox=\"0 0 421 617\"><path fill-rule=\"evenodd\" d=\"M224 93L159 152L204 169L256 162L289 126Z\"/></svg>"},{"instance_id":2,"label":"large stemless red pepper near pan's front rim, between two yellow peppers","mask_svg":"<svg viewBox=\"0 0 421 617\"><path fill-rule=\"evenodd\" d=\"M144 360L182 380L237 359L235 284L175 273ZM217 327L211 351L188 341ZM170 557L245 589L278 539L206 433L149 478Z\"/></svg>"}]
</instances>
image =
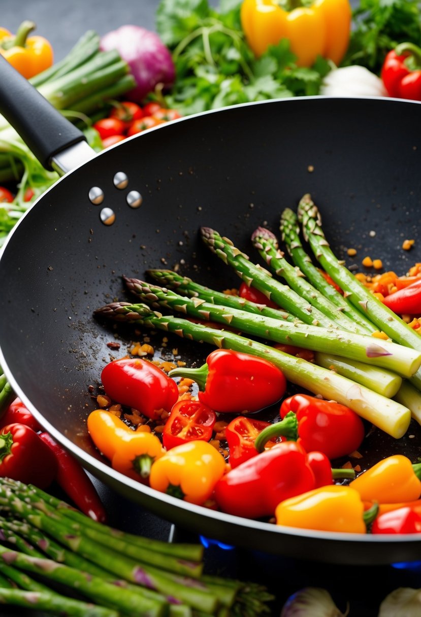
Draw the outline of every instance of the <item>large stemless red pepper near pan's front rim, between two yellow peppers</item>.
<instances>
[{"instance_id":1,"label":"large stemless red pepper near pan's front rim, between two yellow peppers","mask_svg":"<svg viewBox=\"0 0 421 617\"><path fill-rule=\"evenodd\" d=\"M278 503L315 488L307 453L285 441L228 471L215 486L223 512L245 518L272 516Z\"/></svg>"}]
</instances>

